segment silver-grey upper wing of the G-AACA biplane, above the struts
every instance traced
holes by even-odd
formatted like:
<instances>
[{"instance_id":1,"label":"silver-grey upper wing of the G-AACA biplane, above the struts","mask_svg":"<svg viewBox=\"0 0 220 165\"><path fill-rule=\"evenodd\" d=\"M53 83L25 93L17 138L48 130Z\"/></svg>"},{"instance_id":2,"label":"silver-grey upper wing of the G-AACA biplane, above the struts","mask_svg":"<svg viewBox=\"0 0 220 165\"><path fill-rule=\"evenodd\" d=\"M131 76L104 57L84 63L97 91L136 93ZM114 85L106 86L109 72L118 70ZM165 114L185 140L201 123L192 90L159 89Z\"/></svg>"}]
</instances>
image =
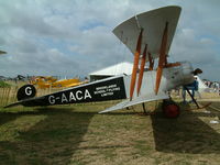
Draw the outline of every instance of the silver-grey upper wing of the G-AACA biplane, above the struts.
<instances>
[{"instance_id":1,"label":"silver-grey upper wing of the G-AACA biplane, above the struts","mask_svg":"<svg viewBox=\"0 0 220 165\"><path fill-rule=\"evenodd\" d=\"M172 6L138 14L119 24L113 30L113 33L134 54L140 31L143 29L141 53L143 53L144 46L147 44L147 52L151 53L152 58L156 58L160 54L166 22L168 23L166 54L168 54L180 10L180 7Z\"/></svg>"}]
</instances>

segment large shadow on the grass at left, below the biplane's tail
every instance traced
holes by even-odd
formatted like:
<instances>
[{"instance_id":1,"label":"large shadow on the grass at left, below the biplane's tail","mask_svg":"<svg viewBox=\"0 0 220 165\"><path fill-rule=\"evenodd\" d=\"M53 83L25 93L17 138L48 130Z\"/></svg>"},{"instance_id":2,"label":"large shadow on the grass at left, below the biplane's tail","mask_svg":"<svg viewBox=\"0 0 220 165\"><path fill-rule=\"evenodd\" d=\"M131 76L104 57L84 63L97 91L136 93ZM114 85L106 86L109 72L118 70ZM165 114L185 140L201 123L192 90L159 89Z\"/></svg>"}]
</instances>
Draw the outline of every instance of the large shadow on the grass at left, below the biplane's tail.
<instances>
[{"instance_id":1,"label":"large shadow on the grass at left, below the biplane's tail","mask_svg":"<svg viewBox=\"0 0 220 165\"><path fill-rule=\"evenodd\" d=\"M0 141L0 160L3 164L68 164L76 151L129 147L124 145L79 146L88 125L97 112L75 112L73 108L46 108L34 112L10 116L4 123L23 116L46 116L28 131L19 131L16 142ZM99 116L99 114L98 114ZM54 128L54 129L53 129Z\"/></svg>"}]
</instances>

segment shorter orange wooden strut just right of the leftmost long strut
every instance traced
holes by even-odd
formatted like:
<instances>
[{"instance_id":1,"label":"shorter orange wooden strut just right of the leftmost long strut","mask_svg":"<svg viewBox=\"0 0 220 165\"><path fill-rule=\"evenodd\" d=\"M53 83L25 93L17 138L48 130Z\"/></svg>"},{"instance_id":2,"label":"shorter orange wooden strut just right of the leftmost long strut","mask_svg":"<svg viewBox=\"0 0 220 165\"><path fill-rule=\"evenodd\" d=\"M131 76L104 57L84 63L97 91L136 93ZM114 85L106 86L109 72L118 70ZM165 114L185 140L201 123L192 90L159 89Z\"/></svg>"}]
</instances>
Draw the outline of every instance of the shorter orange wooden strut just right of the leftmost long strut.
<instances>
[{"instance_id":1,"label":"shorter orange wooden strut just right of the leftmost long strut","mask_svg":"<svg viewBox=\"0 0 220 165\"><path fill-rule=\"evenodd\" d=\"M140 73L139 73L139 81L138 81L138 96L140 94L140 89L141 89L141 85L142 85L142 79L143 79L143 74L144 74L144 66L145 66L145 63L146 63L146 47L147 45L145 45L144 47L144 52L143 52L143 55L142 55L142 58L141 58L141 68L140 68Z\"/></svg>"}]
</instances>

